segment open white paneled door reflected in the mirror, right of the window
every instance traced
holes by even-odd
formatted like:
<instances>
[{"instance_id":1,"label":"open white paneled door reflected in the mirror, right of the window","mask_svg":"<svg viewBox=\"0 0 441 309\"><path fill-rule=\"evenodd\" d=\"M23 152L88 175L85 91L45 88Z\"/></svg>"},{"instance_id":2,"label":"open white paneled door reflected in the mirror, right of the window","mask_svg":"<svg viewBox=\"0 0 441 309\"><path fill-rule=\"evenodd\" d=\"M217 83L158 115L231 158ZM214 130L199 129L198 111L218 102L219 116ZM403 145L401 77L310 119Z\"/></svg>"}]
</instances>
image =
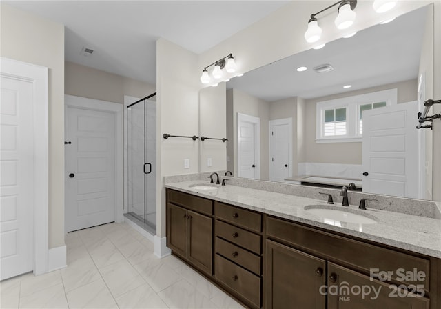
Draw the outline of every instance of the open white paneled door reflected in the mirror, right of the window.
<instances>
[{"instance_id":1,"label":"open white paneled door reflected in the mirror, right of the window","mask_svg":"<svg viewBox=\"0 0 441 309\"><path fill-rule=\"evenodd\" d=\"M416 102L363 112L363 192L420 198Z\"/></svg>"}]
</instances>

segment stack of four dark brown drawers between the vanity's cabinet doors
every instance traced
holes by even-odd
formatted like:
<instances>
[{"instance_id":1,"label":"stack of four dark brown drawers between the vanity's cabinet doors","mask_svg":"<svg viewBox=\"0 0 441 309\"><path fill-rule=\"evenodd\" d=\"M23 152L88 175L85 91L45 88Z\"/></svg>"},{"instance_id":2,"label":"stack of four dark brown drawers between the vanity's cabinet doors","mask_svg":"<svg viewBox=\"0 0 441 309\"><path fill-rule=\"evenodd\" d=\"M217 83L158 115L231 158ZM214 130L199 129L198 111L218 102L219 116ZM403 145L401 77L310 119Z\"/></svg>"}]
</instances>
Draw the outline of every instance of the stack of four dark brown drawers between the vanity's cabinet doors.
<instances>
[{"instance_id":1,"label":"stack of four dark brown drawers between the vanity's cabinet doors","mask_svg":"<svg viewBox=\"0 0 441 309\"><path fill-rule=\"evenodd\" d=\"M214 277L251 308L262 303L262 215L214 202Z\"/></svg>"}]
</instances>

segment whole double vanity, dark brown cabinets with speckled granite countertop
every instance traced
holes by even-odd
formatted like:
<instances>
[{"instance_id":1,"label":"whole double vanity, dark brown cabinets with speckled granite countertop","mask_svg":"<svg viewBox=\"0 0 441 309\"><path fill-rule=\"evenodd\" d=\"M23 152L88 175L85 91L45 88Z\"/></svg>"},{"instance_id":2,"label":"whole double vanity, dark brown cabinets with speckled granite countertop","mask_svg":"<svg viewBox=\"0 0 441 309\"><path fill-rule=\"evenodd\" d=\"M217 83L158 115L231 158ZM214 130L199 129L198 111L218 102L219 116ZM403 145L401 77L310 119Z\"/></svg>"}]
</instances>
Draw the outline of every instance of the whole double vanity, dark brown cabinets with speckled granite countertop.
<instances>
[{"instance_id":1,"label":"whole double vanity, dark brown cabinets with speckled granite countertop","mask_svg":"<svg viewBox=\"0 0 441 309\"><path fill-rule=\"evenodd\" d=\"M205 181L165 186L172 254L249 308L441 308L439 219Z\"/></svg>"}]
</instances>

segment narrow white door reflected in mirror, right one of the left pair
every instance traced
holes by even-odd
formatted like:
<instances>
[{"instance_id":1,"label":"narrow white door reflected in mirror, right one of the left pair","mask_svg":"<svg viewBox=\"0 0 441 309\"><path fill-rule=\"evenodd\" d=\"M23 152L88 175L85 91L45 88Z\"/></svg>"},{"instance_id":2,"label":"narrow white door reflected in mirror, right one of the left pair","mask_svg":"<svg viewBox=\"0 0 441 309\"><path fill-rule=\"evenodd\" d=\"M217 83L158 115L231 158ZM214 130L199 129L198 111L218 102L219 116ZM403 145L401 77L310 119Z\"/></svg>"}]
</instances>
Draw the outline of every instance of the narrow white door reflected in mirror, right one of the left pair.
<instances>
[{"instance_id":1,"label":"narrow white door reflected in mirror, right one of the left pair","mask_svg":"<svg viewBox=\"0 0 441 309\"><path fill-rule=\"evenodd\" d=\"M292 175L292 118L269 121L269 180Z\"/></svg>"}]
</instances>

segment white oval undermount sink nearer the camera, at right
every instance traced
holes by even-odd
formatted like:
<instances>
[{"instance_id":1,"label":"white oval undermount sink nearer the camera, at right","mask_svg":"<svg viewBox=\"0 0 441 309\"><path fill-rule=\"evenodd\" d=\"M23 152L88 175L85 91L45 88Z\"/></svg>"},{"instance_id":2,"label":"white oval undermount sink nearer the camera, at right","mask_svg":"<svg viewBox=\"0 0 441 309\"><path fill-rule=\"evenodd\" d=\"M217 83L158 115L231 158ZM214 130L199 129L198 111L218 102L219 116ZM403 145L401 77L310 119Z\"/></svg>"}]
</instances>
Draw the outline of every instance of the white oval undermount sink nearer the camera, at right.
<instances>
[{"instance_id":1,"label":"white oval undermount sink nearer the camera, at right","mask_svg":"<svg viewBox=\"0 0 441 309\"><path fill-rule=\"evenodd\" d=\"M339 210L335 208L322 208L322 206L316 206L316 207L306 206L305 210L309 212L311 215L316 215L317 217L330 221L340 221L340 222L356 223L356 224L377 223L377 221L365 215L358 215L353 212Z\"/></svg>"}]
</instances>

